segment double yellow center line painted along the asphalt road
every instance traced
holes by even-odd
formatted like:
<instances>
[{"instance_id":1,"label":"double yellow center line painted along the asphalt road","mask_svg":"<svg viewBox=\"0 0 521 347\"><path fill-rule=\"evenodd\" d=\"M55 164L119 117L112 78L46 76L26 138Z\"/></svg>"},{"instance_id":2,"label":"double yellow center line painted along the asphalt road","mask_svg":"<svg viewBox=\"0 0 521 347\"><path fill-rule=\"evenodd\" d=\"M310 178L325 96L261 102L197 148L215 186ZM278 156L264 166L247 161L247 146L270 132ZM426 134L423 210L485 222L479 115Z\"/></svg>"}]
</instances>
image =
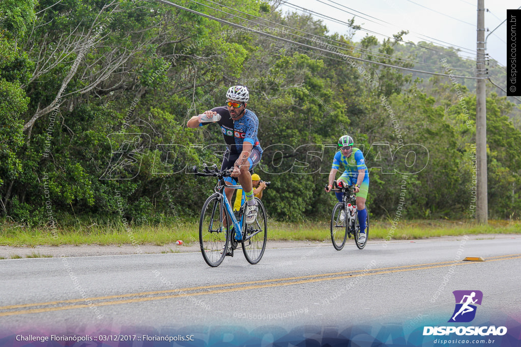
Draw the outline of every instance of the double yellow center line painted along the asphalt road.
<instances>
[{"instance_id":1,"label":"double yellow center line painted along the asphalt road","mask_svg":"<svg viewBox=\"0 0 521 347\"><path fill-rule=\"evenodd\" d=\"M491 262L491 261L510 260L510 259L519 259L519 258L521 258L521 254L509 254L509 255L501 255L501 256L494 256L491 258L487 258L486 261ZM329 281L329 280L335 280L335 279L382 275L382 274L398 273L398 272L405 272L405 271L417 271L417 270L425 270L425 269L438 268L438 267L446 267L446 266L454 266L454 265L460 266L460 265L469 265L469 264L475 264L475 263L472 263L472 262L456 262L455 263L454 261L450 261L450 262L440 262L440 263L404 265L404 266L395 266L395 267L362 269L362 270L335 272L335 273L328 273L328 274L300 276L300 277L287 277L287 278L265 279L265 280L259 280L259 281L249 281L249 282L237 282L237 283L213 285L213 286L148 291L148 292L140 292L140 293L120 294L120 295L108 295L105 297L59 300L59 301L49 301L49 302L41 302L41 303L34 303L34 304L0 306L0 317L31 314L31 313L72 310L72 309L84 309L84 308L91 307L89 304L87 304L87 302L90 302L91 304L94 304L96 306L119 305L119 304L136 303L136 302L143 302L143 301L152 301L152 300L164 300L164 299L181 298L181 297L192 297L195 295L218 294L218 293L258 289L258 288L292 286L292 285L298 285L298 284ZM480 264L482 264L482 263L480 263ZM126 299L126 298L128 298L128 299ZM30 308L30 307L33 307L33 308Z\"/></svg>"}]
</instances>

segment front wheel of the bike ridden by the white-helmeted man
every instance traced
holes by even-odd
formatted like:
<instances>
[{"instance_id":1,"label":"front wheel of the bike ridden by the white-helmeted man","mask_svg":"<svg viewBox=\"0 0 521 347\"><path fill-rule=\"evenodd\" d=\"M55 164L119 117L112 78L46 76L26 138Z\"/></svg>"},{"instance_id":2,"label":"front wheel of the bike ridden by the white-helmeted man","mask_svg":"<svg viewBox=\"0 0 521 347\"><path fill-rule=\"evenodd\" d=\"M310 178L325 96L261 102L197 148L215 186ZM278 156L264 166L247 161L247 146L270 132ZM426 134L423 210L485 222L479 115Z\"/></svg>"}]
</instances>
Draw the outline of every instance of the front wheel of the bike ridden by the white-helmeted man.
<instances>
[{"instance_id":1,"label":"front wheel of the bike ridden by the white-helmeted man","mask_svg":"<svg viewBox=\"0 0 521 347\"><path fill-rule=\"evenodd\" d=\"M206 199L199 219L201 253L206 264L212 267L222 263L228 249L229 238L224 225L229 225L230 221L222 199L226 198L212 195Z\"/></svg>"}]
</instances>

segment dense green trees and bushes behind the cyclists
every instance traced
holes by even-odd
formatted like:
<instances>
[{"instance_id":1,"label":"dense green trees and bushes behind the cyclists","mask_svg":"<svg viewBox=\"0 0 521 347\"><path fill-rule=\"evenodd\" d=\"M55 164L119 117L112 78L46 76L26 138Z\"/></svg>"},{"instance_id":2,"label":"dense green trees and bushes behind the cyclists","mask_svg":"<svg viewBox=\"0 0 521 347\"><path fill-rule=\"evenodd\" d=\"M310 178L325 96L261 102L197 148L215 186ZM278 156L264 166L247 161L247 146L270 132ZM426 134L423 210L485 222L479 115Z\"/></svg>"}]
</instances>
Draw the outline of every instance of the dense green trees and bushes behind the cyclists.
<instances>
[{"instance_id":1,"label":"dense green trees and bushes behind the cyclists","mask_svg":"<svg viewBox=\"0 0 521 347\"><path fill-rule=\"evenodd\" d=\"M474 85L418 80L348 57L414 67L393 55L440 65L443 54L407 48L404 33L355 43L353 25L328 35L313 17L284 15L261 0L221 0L234 18L176 3L257 32L140 0L1 2L6 219L54 226L194 217L214 182L189 169L219 164L223 146L217 126L192 130L186 122L223 105L234 84L250 89L248 107L259 118L265 152L256 172L272 182L264 195L270 216L327 218L334 198L324 185L334 145L348 133L371 168L372 215L394 216L402 196L407 217L473 217ZM518 109L488 88L490 216L519 218L521 132L507 117Z\"/></svg>"}]
</instances>

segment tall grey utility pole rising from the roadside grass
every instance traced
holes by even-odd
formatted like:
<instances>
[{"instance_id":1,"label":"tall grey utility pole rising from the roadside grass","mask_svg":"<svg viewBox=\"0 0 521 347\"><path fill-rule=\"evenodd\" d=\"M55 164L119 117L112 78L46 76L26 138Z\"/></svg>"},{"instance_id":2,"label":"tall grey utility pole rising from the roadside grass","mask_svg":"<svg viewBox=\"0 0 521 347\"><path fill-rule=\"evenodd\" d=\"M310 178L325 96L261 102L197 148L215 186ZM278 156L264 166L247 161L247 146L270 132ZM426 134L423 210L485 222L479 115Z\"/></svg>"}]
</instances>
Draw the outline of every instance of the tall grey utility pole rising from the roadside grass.
<instances>
[{"instance_id":1,"label":"tall grey utility pole rising from the roadside grass","mask_svg":"<svg viewBox=\"0 0 521 347\"><path fill-rule=\"evenodd\" d=\"M479 224L488 223L487 202L487 94L485 90L485 0L478 0L478 28L476 50L476 166L477 206Z\"/></svg>"}]
</instances>

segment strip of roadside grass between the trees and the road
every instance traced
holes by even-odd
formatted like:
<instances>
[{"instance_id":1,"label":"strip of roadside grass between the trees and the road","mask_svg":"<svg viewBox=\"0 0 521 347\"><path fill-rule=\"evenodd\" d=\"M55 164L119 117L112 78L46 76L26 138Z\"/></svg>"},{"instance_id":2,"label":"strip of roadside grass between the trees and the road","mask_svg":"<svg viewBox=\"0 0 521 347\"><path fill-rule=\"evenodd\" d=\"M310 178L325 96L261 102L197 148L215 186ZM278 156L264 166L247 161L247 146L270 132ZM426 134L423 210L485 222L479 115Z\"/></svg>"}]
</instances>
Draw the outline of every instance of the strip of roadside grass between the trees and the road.
<instances>
[{"instance_id":1,"label":"strip of roadside grass between the trees and the road","mask_svg":"<svg viewBox=\"0 0 521 347\"><path fill-rule=\"evenodd\" d=\"M268 222L268 240L329 240L329 222ZM370 239L414 240L428 237L472 234L521 234L521 221L489 221L478 225L470 221L411 220L370 221ZM493 237L493 236L492 236ZM138 245L163 246L182 240L184 245L199 243L199 223L182 221L157 226L77 225L67 229L27 228L0 225L0 245L34 247L39 245ZM175 250L173 250L175 252ZM44 256L44 255L38 255Z\"/></svg>"}]
</instances>

